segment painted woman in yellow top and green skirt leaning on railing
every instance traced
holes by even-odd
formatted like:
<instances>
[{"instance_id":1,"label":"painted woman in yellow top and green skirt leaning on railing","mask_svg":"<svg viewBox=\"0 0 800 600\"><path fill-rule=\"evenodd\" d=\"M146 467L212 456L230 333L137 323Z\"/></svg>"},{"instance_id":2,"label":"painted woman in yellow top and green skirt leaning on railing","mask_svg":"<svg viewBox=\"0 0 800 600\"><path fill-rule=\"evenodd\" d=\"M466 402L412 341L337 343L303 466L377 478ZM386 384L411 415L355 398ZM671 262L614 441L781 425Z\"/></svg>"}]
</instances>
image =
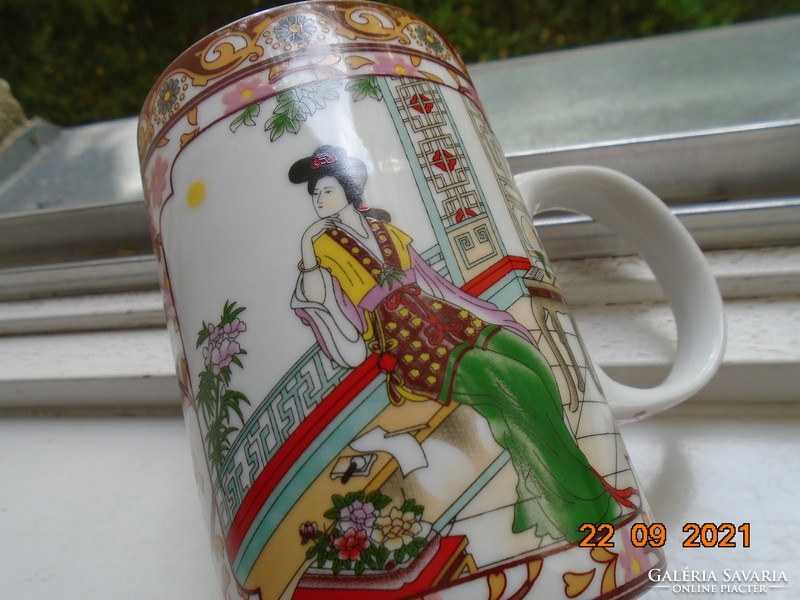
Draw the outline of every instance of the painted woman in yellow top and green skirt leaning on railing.
<instances>
[{"instance_id":1,"label":"painted woman in yellow top and green skirt leaning on railing","mask_svg":"<svg viewBox=\"0 0 800 600\"><path fill-rule=\"evenodd\" d=\"M395 404L459 402L484 417L517 475L513 532L576 541L581 525L618 520L627 501L578 448L530 333L436 273L388 215L371 215L361 160L322 146L289 179L307 185L318 217L301 240L292 308L325 354L347 367L377 354Z\"/></svg>"}]
</instances>

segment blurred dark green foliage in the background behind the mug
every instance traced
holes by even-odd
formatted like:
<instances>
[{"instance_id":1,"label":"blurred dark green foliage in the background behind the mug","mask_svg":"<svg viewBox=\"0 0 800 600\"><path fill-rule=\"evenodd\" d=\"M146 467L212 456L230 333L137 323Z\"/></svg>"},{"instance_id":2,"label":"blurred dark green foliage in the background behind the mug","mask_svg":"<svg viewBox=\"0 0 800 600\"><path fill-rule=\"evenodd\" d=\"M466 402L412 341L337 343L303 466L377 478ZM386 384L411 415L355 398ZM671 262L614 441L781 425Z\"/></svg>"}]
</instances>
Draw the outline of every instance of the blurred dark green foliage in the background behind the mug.
<instances>
[{"instance_id":1,"label":"blurred dark green foliage in the background behind the mug","mask_svg":"<svg viewBox=\"0 0 800 600\"><path fill-rule=\"evenodd\" d=\"M800 12L800 0L389 0L469 62ZM0 0L0 77L59 125L135 115L184 48L258 0Z\"/></svg>"}]
</instances>

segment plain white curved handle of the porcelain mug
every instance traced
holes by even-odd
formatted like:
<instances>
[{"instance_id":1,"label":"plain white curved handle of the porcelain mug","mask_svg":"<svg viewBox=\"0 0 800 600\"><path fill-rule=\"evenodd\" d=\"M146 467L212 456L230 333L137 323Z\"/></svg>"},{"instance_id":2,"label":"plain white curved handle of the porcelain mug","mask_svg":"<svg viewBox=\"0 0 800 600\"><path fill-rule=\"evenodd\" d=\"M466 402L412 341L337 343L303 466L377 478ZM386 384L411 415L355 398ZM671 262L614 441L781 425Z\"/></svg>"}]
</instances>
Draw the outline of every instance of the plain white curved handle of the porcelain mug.
<instances>
[{"instance_id":1,"label":"plain white curved handle of the porcelain mug","mask_svg":"<svg viewBox=\"0 0 800 600\"><path fill-rule=\"evenodd\" d=\"M633 421L651 416L708 383L725 348L722 298L700 248L667 206L638 181L602 167L557 167L515 179L531 217L552 209L582 213L631 243L672 308L678 349L662 383L635 388L596 368L614 417Z\"/></svg>"}]
</instances>

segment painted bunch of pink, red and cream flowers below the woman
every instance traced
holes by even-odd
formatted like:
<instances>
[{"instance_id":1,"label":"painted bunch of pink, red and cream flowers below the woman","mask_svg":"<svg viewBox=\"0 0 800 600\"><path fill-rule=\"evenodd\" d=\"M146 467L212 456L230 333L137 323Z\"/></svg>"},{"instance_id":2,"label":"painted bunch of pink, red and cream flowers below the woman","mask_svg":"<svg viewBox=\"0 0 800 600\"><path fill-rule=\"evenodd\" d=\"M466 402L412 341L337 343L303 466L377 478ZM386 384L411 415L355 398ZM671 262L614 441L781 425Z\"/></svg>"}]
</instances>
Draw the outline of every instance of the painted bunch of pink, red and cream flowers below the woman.
<instances>
[{"instance_id":1,"label":"painted bunch of pink, red and cream flowers below the woman","mask_svg":"<svg viewBox=\"0 0 800 600\"><path fill-rule=\"evenodd\" d=\"M424 507L413 498L391 506L392 499L379 491L331 496L333 506L323 515L333 521L327 531L316 522L300 526L302 544L311 544L306 558L334 575L352 570L391 571L413 560L427 545L430 525L422 521Z\"/></svg>"}]
</instances>

